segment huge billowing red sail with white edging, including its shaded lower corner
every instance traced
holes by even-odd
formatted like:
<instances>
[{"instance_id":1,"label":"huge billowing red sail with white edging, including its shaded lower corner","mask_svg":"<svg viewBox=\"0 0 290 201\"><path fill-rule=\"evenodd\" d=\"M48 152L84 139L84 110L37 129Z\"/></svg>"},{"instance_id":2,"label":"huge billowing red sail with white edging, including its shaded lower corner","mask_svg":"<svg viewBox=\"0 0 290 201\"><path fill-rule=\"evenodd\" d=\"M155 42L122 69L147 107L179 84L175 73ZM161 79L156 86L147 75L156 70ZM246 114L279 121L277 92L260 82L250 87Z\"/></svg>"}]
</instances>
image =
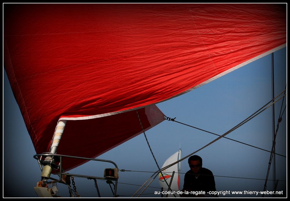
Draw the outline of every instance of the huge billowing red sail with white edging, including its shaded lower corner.
<instances>
[{"instance_id":1,"label":"huge billowing red sail with white edging, including its shaded lower corner","mask_svg":"<svg viewBox=\"0 0 290 201\"><path fill-rule=\"evenodd\" d=\"M3 8L4 67L38 154L63 118L57 153L98 156L142 132L136 109L147 130L164 120L153 104L286 46L285 4Z\"/></svg>"}]
</instances>

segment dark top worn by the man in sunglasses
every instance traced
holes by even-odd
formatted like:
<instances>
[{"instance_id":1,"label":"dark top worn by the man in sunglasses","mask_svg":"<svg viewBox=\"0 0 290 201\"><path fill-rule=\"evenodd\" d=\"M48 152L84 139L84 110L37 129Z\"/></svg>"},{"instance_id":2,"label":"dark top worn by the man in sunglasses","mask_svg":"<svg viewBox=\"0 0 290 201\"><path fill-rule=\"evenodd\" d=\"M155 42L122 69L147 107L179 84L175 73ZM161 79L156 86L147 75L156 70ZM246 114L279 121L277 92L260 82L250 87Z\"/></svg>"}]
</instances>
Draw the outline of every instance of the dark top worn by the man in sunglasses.
<instances>
[{"instance_id":1,"label":"dark top worn by the man in sunglasses","mask_svg":"<svg viewBox=\"0 0 290 201\"><path fill-rule=\"evenodd\" d=\"M213 173L206 168L201 168L198 173L199 176L195 178L192 170L186 172L184 176L183 190L186 191L216 191L215 179Z\"/></svg>"}]
</instances>

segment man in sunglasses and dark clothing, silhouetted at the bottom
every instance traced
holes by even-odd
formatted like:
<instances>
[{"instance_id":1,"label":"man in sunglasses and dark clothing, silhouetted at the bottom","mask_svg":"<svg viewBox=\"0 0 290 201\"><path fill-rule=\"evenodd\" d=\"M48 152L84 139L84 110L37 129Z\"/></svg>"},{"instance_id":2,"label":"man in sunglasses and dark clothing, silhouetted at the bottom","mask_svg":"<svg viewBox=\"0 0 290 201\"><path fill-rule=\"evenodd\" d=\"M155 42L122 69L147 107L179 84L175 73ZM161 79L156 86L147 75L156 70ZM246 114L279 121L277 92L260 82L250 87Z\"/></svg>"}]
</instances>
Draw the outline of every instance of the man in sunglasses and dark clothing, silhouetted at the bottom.
<instances>
[{"instance_id":1,"label":"man in sunglasses and dark clothing, silhouetted at the bottom","mask_svg":"<svg viewBox=\"0 0 290 201\"><path fill-rule=\"evenodd\" d=\"M195 193L185 194L186 197L200 197L204 194L197 194L197 191L216 191L215 179L213 173L204 167L202 167L202 158L197 155L189 157L188 164L190 170L186 172L184 176L183 191L195 191ZM218 196L216 196L218 197Z\"/></svg>"}]
</instances>

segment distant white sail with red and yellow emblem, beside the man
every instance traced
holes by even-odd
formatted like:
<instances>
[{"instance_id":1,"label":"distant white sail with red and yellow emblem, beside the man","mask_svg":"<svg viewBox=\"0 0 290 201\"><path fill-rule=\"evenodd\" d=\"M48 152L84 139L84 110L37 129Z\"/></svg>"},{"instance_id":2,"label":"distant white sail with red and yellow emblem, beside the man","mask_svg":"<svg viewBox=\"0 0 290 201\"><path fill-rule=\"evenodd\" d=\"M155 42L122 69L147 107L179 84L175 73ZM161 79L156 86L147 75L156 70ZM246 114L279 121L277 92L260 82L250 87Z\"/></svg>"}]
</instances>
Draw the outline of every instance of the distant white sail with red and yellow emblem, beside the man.
<instances>
[{"instance_id":1,"label":"distant white sail with red and yellow emblem, beside the man","mask_svg":"<svg viewBox=\"0 0 290 201\"><path fill-rule=\"evenodd\" d=\"M171 163L174 163L176 161L178 161L180 159L180 152L181 150L179 150L178 152L176 152L175 154L173 154L172 156L170 156L165 163L162 165L162 168L170 165ZM168 185L170 183L170 180L172 178L172 172L175 171L174 176L173 176L173 180L171 183L171 190L175 191L175 196L177 198L180 197L180 195L177 194L177 191L179 191L179 183L180 183L180 163L177 163L171 167L168 167L167 169L164 169L162 171L163 176L161 175L161 173L159 173L159 184L160 187L163 187L163 191L170 191L168 190ZM166 182L168 183L168 185L166 184ZM164 197L166 196L166 194L164 195ZM172 194L168 195L168 198L174 198L174 196Z\"/></svg>"}]
</instances>

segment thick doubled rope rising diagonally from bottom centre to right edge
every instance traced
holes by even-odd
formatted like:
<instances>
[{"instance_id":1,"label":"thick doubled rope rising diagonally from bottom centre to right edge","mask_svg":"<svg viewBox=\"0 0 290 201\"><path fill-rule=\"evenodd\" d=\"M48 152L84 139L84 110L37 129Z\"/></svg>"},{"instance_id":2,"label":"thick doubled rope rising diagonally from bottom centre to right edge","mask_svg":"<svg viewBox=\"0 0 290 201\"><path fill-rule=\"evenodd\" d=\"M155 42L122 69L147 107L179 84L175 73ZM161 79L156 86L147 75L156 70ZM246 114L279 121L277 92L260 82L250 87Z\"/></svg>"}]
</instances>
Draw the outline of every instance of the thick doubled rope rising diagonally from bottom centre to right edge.
<instances>
[{"instance_id":1,"label":"thick doubled rope rising diagonally from bottom centre to right edge","mask_svg":"<svg viewBox=\"0 0 290 201\"><path fill-rule=\"evenodd\" d=\"M278 94L274 99L276 99L276 98L278 98L284 91L286 91L286 89L284 89L280 94ZM287 93L284 93L284 95L282 96L282 97L284 97L285 95L287 95ZM189 154L189 155L187 155L187 156L185 156L184 158L181 158L180 160L178 160L178 161L176 161L176 162L174 162L174 163L171 163L170 165L167 165L166 167L163 167L162 169L159 169L159 170L157 170L151 177L149 177L148 178L148 180L142 185L142 187L144 187L144 185L156 174L156 173L158 173L158 172L160 172L160 171L163 171L164 169L166 169L166 168L168 168L168 167L171 167L171 166L173 166L173 165L175 165L175 164L177 164L177 163L179 163L180 161L183 161L184 159L186 159L186 158L188 158L189 156L191 156L191 155L193 155L193 154L195 154L195 153L197 153L197 152L199 152L200 150L202 150L202 149L204 149L205 147L207 147L207 146L209 146L209 145L211 145L212 143L214 143L214 142L216 142L216 141L218 141L219 139L221 139L222 137L224 137L224 136L226 136L227 134L229 134L230 132L232 132L232 131L234 131L235 129L237 129L237 128L239 128L240 126L242 126L243 124L245 124L245 123L247 123L248 121L250 121L251 119L253 119L254 117L256 117L257 115L259 115L260 113L262 113L264 110L266 110L267 108L269 108L271 105L273 105L274 103L276 103L277 101L279 101L282 97L280 97L278 100L276 100L275 102L272 102L272 100L271 101L269 101L267 104L265 104L262 108L260 108L259 110L257 110L255 113L253 113L251 116L249 116L247 119L245 119L244 121L242 121L241 123L239 123L238 125L236 125L236 126L234 126L233 128L231 128L229 131L227 131L227 132L225 132L223 135L221 135L220 137L218 137L217 139L215 139L215 140L213 140L213 141L211 141L210 143L208 143L207 145L204 145L203 147L201 147L200 149L198 149L198 150L196 150L195 152L193 152L193 153L191 153L191 154ZM269 106L267 106L270 102L272 102ZM264 108L265 106L267 106L266 108ZM264 109L263 109L264 108ZM260 111L261 110L261 111ZM149 184L148 185L150 185L152 182L153 182L153 180L156 178L156 176L157 176L158 174L156 174L155 176L154 176L154 178L151 180L151 182L149 182ZM148 187L148 185L144 188L144 190L142 191L142 192L144 192L145 191L145 189ZM135 192L135 194L137 194L138 193L138 191L142 188L142 187L140 187L136 192ZM141 194L142 194L142 192L141 192ZM135 195L134 194L134 195Z\"/></svg>"}]
</instances>

